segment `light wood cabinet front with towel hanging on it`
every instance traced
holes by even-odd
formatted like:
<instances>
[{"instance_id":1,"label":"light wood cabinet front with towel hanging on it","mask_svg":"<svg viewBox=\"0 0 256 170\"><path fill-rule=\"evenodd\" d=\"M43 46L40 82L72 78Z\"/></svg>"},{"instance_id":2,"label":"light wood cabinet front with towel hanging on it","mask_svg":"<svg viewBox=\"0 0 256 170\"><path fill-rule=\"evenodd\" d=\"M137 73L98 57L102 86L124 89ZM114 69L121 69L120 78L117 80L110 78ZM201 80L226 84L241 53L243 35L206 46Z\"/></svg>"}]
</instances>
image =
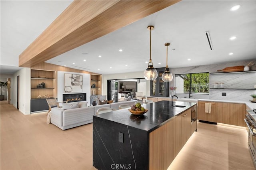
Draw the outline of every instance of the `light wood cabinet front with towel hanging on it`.
<instances>
[{"instance_id":1,"label":"light wood cabinet front with towel hanging on it","mask_svg":"<svg viewBox=\"0 0 256 170\"><path fill-rule=\"evenodd\" d=\"M211 103L211 113L205 113L205 103ZM217 123L217 102L198 101L198 120Z\"/></svg>"}]
</instances>

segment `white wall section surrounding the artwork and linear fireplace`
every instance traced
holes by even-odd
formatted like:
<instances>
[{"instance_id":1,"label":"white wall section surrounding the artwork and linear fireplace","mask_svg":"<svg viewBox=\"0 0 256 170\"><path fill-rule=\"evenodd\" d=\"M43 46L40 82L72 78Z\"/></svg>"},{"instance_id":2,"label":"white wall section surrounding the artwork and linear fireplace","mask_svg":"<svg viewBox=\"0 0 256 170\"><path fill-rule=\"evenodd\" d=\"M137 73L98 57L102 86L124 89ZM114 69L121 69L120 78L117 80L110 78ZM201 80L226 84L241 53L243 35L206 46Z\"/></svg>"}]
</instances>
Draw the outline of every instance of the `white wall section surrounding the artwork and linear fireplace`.
<instances>
[{"instance_id":1,"label":"white wall section surrounding the artwork and linear fireplace","mask_svg":"<svg viewBox=\"0 0 256 170\"><path fill-rule=\"evenodd\" d=\"M67 71L58 71L58 102L62 102L62 95L64 94L64 73L83 75L83 91L81 93L86 93L86 101L90 103L90 74Z\"/></svg>"}]
</instances>

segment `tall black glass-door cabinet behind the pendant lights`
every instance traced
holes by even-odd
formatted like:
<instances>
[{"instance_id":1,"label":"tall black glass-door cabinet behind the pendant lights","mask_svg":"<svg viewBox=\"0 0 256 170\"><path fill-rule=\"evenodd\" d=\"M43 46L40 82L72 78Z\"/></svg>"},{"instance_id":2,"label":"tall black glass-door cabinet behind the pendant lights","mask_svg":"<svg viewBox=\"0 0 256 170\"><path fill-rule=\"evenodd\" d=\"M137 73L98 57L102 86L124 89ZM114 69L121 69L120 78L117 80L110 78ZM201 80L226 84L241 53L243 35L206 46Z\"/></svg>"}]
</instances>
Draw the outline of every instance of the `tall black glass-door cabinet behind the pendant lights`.
<instances>
[{"instance_id":1,"label":"tall black glass-door cabinet behind the pendant lights","mask_svg":"<svg viewBox=\"0 0 256 170\"><path fill-rule=\"evenodd\" d=\"M169 96L169 82L162 80L162 74L165 67L156 69L158 77L154 81L150 81L150 96L168 97Z\"/></svg>"}]
</instances>

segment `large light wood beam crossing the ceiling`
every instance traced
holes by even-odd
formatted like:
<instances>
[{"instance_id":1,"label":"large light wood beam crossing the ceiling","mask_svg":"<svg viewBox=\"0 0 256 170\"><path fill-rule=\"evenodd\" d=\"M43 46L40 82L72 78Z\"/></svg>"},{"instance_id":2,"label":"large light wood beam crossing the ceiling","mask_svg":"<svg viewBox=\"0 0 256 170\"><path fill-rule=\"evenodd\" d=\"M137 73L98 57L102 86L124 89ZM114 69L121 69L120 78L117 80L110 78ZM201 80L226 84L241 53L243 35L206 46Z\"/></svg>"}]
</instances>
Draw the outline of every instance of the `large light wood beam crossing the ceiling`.
<instances>
[{"instance_id":1,"label":"large light wood beam crossing the ceiling","mask_svg":"<svg viewBox=\"0 0 256 170\"><path fill-rule=\"evenodd\" d=\"M19 66L47 61L179 1L76 0L19 55Z\"/></svg>"}]
</instances>

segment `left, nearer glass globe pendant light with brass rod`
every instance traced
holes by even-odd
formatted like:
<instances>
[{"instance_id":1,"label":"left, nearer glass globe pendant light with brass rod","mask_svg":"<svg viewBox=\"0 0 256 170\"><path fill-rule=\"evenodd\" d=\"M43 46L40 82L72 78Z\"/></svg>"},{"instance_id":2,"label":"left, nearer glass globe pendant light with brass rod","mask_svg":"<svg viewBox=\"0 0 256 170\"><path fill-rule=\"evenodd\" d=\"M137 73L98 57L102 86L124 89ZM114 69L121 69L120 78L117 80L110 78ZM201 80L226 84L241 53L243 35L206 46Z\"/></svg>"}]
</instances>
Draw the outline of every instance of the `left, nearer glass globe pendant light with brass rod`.
<instances>
[{"instance_id":1,"label":"left, nearer glass globe pendant light with brass rod","mask_svg":"<svg viewBox=\"0 0 256 170\"><path fill-rule=\"evenodd\" d=\"M148 30L150 31L150 59L148 62L148 68L144 71L144 77L146 80L155 80L158 76L156 69L153 67L153 63L151 60L151 30L154 29L154 26L148 26Z\"/></svg>"}]
</instances>

